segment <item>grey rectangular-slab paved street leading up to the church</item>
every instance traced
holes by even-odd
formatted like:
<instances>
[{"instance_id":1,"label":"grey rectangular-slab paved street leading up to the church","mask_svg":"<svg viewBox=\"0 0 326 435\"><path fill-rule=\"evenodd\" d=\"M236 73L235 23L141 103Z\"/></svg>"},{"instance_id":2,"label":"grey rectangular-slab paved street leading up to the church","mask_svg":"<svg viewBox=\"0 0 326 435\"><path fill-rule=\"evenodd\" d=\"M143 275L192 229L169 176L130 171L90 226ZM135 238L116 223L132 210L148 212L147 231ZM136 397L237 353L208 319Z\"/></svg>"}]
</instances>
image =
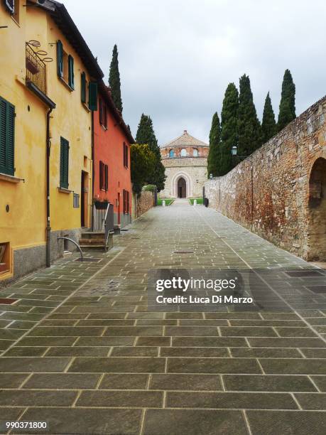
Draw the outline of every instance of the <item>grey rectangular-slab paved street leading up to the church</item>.
<instances>
[{"instance_id":1,"label":"grey rectangular-slab paved street leading up to the church","mask_svg":"<svg viewBox=\"0 0 326 435\"><path fill-rule=\"evenodd\" d=\"M325 434L324 271L183 202L114 243L1 291L2 433ZM256 306L153 311L148 269L170 267L254 269Z\"/></svg>"}]
</instances>

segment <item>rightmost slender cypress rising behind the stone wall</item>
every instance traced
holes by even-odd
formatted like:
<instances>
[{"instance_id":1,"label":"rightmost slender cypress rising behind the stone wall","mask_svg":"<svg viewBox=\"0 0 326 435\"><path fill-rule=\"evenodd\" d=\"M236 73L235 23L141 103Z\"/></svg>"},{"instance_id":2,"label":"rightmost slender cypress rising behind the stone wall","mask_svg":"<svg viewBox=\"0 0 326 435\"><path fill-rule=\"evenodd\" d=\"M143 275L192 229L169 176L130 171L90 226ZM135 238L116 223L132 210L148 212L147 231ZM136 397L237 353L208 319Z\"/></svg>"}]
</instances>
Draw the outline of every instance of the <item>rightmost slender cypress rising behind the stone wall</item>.
<instances>
[{"instance_id":1,"label":"rightmost slender cypress rising behind the stone wall","mask_svg":"<svg viewBox=\"0 0 326 435\"><path fill-rule=\"evenodd\" d=\"M290 70L283 77L280 110L278 112L278 131L295 119L295 84Z\"/></svg>"}]
</instances>

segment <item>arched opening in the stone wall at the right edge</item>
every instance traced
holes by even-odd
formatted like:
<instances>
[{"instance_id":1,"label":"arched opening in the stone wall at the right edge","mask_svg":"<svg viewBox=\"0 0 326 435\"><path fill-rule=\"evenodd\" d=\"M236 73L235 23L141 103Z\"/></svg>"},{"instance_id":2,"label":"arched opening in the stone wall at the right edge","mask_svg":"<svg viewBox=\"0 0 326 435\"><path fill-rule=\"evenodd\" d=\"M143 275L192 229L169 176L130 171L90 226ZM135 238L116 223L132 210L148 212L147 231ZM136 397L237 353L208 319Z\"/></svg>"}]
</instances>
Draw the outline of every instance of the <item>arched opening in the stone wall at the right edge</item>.
<instances>
[{"instance_id":1,"label":"arched opening in the stone wall at the right edge","mask_svg":"<svg viewBox=\"0 0 326 435\"><path fill-rule=\"evenodd\" d=\"M308 260L326 261L326 159L317 159L309 180Z\"/></svg>"}]
</instances>

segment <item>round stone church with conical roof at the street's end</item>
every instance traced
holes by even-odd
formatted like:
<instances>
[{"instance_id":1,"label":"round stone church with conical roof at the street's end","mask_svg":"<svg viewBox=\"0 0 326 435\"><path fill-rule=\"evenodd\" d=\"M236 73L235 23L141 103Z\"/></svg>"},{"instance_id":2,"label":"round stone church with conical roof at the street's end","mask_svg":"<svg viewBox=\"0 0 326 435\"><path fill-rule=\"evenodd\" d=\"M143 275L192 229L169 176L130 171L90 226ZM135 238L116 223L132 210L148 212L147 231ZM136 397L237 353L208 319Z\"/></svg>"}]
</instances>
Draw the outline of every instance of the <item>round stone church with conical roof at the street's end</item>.
<instances>
[{"instance_id":1,"label":"round stone church with conical roof at the street's end","mask_svg":"<svg viewBox=\"0 0 326 435\"><path fill-rule=\"evenodd\" d=\"M207 156L209 145L188 131L161 146L165 166L165 187L160 198L201 198L207 181Z\"/></svg>"}]
</instances>

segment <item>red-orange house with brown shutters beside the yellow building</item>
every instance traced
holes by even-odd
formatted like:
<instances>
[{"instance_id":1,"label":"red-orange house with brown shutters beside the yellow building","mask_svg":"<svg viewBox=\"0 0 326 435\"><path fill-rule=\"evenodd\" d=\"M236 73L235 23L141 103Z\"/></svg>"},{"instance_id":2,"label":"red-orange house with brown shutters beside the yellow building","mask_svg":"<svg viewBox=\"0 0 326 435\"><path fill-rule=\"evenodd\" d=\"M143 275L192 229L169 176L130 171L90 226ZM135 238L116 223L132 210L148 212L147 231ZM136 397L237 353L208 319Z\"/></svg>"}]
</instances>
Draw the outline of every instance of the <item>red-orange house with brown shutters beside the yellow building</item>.
<instances>
[{"instance_id":1,"label":"red-orange house with brown shutters beside the yellow building","mask_svg":"<svg viewBox=\"0 0 326 435\"><path fill-rule=\"evenodd\" d=\"M114 205L114 224L131 222L130 145L134 138L114 106L111 92L99 83L97 111L93 112L93 198Z\"/></svg>"}]
</instances>

